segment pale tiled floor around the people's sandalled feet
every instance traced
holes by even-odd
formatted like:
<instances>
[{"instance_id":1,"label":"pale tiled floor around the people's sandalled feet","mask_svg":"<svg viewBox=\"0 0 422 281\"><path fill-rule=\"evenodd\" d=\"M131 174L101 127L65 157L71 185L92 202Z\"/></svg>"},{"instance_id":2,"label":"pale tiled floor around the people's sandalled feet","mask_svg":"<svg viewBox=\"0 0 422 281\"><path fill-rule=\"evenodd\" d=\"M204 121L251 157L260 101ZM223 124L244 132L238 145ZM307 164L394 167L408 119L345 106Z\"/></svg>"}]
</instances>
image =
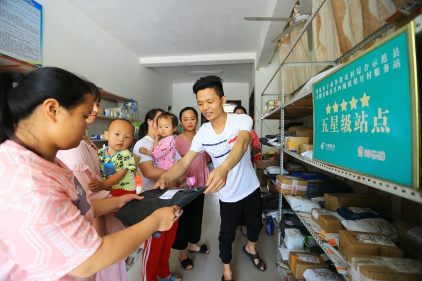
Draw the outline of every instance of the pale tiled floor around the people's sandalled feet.
<instances>
[{"instance_id":1,"label":"pale tiled floor around the people's sandalled feet","mask_svg":"<svg viewBox=\"0 0 422 281\"><path fill-rule=\"evenodd\" d=\"M170 269L183 276L183 281L219 281L223 275L223 265L218 256L218 232L220 227L220 211L218 196L216 193L205 196L204 218L202 221L202 238L200 243L207 244L211 252L208 255L190 254L194 260L194 269L191 271L183 270L178 257L179 251L172 250L170 256ZM238 281L276 281L280 280L276 268L276 242L274 235L265 234L265 225L260 234L260 240L257 242L257 250L260 257L267 265L265 272L260 272L252 265L252 261L246 257L242 251L242 246L246 245L246 238L243 237L240 230L236 233L236 239L233 243L233 259L231 267L234 280ZM141 259L128 272L130 281L142 280Z\"/></svg>"}]
</instances>

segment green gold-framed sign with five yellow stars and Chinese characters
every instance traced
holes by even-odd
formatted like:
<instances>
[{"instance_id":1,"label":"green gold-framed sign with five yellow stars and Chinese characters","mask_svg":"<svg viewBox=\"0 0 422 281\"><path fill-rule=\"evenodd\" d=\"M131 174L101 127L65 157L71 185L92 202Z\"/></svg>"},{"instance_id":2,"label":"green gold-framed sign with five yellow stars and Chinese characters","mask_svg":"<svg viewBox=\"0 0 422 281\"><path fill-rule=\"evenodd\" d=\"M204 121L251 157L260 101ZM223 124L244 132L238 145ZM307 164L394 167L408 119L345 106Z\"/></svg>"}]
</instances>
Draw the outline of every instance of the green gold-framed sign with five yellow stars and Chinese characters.
<instances>
[{"instance_id":1,"label":"green gold-framed sign with five yellow stars and Chinese characters","mask_svg":"<svg viewBox=\"0 0 422 281\"><path fill-rule=\"evenodd\" d=\"M413 22L312 85L314 160L419 188Z\"/></svg>"}]
</instances>

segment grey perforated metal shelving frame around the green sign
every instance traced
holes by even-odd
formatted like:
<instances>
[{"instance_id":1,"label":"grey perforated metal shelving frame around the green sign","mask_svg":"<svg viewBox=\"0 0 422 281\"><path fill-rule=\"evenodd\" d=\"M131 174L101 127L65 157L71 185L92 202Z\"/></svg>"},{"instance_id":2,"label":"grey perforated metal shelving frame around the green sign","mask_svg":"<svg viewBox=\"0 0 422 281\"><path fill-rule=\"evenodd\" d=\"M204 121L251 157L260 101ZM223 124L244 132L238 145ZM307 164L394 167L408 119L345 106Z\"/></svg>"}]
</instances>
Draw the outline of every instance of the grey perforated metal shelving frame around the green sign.
<instances>
[{"instance_id":1,"label":"grey perforated metal shelving frame around the green sign","mask_svg":"<svg viewBox=\"0 0 422 281\"><path fill-rule=\"evenodd\" d=\"M302 88L302 86L303 86L302 85L297 90L293 91L291 94L285 94L284 93L284 87L283 87L283 82L284 82L284 70L283 69L284 69L284 67L297 67L297 66L300 67L300 66L305 66L305 65L323 65L323 64L328 65L328 67L333 67L333 66L337 65L338 63L343 62L346 58L353 55L358 50L361 50L363 47L366 46L366 44L368 44L372 40L376 39L377 37L382 35L384 32L388 31L389 29L391 29L393 27L391 24L388 24L388 23L384 24L378 30L374 31L372 34L370 34L369 36L364 38L361 42L357 43L349 51L345 52L343 55L341 55L341 57L339 57L337 60L335 60L333 62L297 62L297 63L285 62L287 57L291 54L293 48L296 46L296 44L300 40L301 36L304 34L306 27L308 26L308 24L310 24L312 19L318 13L319 9L324 4L324 2L325 2L325 0L321 0L319 2L319 4L315 7L315 11L312 13L312 15L308 19L307 23L305 24L304 28L299 33L299 35L296 38L296 40L294 41L292 47L290 47L289 51L287 52L287 55L281 60L279 68L276 70L274 75L270 78L268 84L266 85L266 87L262 91L261 105L263 105L262 98L263 98L264 95L275 95L275 94L264 94L264 93L267 90L267 88L269 87L269 85L271 84L271 82L273 81L273 79L276 77L277 73L280 71L281 93L279 94L279 96L281 98L281 106L279 108L276 108L273 111L269 112L268 114L262 116L260 118L262 121L264 121L264 120L279 120L281 128L284 128L284 124L285 124L284 121L285 120L307 117L307 116L310 116L310 115L313 114L312 90L308 90L304 93L297 94L300 91L300 89ZM325 69L327 69L327 68L325 68ZM293 96L294 94L297 94L297 95ZM285 98L286 95L293 96L293 98L285 103L284 98ZM261 125L261 135L262 135L262 125ZM281 135L281 140L284 140L283 129L281 129L280 135ZM386 180L382 180L382 179L379 179L379 178L368 176L368 175L360 173L360 172L351 172L351 171L344 170L344 169L341 169L341 168L338 168L338 167L335 167L335 166L331 166L331 165L326 164L326 163L310 160L310 159L305 158L303 156L300 156L296 153L288 151L284 148L280 148L280 147L269 145L269 144L267 144L267 146L272 147L272 148L280 149L280 168L283 167L283 161L284 161L283 155L284 155L284 153L286 153L287 155L292 156L293 158L295 158L299 161L302 161L304 163L312 165L312 166L319 168L321 170L324 170L326 172L330 172L334 175L339 175L343 178L353 180L355 182L364 184L366 186L377 188L379 190L388 192L390 194L393 194L395 196L399 196L401 198L405 198L407 200L411 200L411 201L414 201L414 202L417 202L417 203L422 203L422 191L418 191L418 190L415 190L415 189L412 189L412 188L409 188L409 187L398 185L398 184L393 183L393 182L389 182L389 181L386 181ZM274 180L272 180L272 182L274 184L276 184L276 182ZM282 197L283 197L283 195L279 194L280 200L279 200L279 206L278 206L278 218L281 218ZM302 223L306 226L308 231L314 236L314 238L318 242L319 246L328 255L328 251L332 250L332 246L329 245L324 240L322 240L320 238L320 236L315 233L315 231L305 221L305 219L303 219L303 217L300 216L300 213L297 213L297 212L295 212L295 213L298 216L298 218L302 221ZM277 247L280 247L280 244L281 244L281 234L278 231ZM331 247L331 249L329 249L329 247ZM339 258L341 256L341 254L340 253L336 254L336 256ZM340 257L340 259L341 259L342 262L347 264L347 261L345 261L344 258ZM341 275L341 276L343 278L345 278L345 275Z\"/></svg>"}]
</instances>

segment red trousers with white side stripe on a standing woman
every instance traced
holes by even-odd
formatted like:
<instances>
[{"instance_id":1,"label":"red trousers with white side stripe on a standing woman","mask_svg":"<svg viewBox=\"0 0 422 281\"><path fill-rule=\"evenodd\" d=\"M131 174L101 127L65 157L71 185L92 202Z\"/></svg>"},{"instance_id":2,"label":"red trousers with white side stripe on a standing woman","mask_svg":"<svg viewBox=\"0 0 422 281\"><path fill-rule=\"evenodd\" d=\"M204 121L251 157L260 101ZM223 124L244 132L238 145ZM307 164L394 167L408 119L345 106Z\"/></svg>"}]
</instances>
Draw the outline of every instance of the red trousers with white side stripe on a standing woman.
<instances>
[{"instance_id":1,"label":"red trousers with white side stripe on a standing woman","mask_svg":"<svg viewBox=\"0 0 422 281\"><path fill-rule=\"evenodd\" d=\"M144 253L142 254L142 280L157 281L159 278L170 276L170 250L176 237L179 220L172 228L161 233L160 238L149 237L145 241Z\"/></svg>"}]
</instances>

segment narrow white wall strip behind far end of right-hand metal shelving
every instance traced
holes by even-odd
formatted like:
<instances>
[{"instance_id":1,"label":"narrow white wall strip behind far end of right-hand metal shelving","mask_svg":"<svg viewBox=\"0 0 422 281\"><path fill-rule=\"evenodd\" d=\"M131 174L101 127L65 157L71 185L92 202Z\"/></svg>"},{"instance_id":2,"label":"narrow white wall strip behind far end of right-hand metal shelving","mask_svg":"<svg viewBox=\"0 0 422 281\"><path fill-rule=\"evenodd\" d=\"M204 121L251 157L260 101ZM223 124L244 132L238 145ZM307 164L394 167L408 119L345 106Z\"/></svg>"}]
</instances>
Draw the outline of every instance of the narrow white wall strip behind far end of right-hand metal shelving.
<instances>
[{"instance_id":1,"label":"narrow white wall strip behind far end of right-hand metal shelving","mask_svg":"<svg viewBox=\"0 0 422 281\"><path fill-rule=\"evenodd\" d=\"M261 94L264 88L267 86L268 82L270 82L270 78L276 72L278 68L278 56L273 57L273 61L267 67L261 67L259 70L255 70L255 131L257 132L259 137L263 137L265 135L275 135L279 133L278 127L280 126L280 120L261 120L263 105L266 101L271 99L277 99L276 95L264 95L261 97ZM278 93L278 75L271 81L270 85L268 86L267 90L264 94L277 94ZM261 98L262 98L262 105L261 105ZM259 109L259 111L258 111ZM264 124L264 125L262 125ZM262 132L261 132L262 126ZM263 152L267 152L271 149L271 147L264 146Z\"/></svg>"}]
</instances>

